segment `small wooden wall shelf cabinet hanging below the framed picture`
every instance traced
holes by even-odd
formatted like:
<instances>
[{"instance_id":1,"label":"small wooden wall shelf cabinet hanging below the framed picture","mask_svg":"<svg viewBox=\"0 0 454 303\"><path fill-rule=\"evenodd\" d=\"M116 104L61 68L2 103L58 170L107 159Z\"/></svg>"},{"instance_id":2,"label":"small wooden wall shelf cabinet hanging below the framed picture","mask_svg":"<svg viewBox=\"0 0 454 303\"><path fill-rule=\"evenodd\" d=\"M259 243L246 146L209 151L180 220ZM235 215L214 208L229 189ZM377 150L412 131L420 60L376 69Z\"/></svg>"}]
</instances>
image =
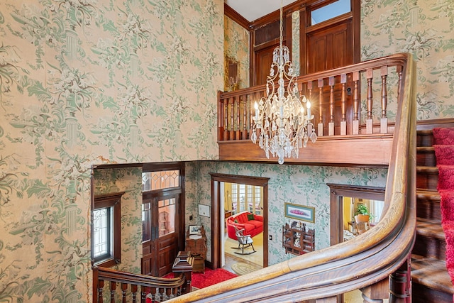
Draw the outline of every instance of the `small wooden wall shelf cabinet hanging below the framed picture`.
<instances>
[{"instance_id":1,"label":"small wooden wall shelf cabinet hanging below the framed picture","mask_svg":"<svg viewBox=\"0 0 454 303\"><path fill-rule=\"evenodd\" d=\"M285 253L303 255L315 250L315 231L306 228L306 224L301 226L282 226L282 246Z\"/></svg>"}]
</instances>

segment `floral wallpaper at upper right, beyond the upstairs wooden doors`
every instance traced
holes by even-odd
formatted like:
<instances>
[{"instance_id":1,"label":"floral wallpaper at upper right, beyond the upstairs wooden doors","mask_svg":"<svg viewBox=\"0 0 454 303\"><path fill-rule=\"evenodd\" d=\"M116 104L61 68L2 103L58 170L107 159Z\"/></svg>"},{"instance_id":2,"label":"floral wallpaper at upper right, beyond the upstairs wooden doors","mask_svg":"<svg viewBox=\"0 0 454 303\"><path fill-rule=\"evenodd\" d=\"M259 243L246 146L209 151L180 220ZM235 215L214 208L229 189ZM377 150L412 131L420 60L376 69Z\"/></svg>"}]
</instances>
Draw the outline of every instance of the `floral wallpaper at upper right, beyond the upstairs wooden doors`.
<instances>
[{"instance_id":1,"label":"floral wallpaper at upper right, beyond the upstairs wooden doors","mask_svg":"<svg viewBox=\"0 0 454 303\"><path fill-rule=\"evenodd\" d=\"M411 53L417 119L454 116L454 2L362 0L361 60Z\"/></svg>"}]
</instances>

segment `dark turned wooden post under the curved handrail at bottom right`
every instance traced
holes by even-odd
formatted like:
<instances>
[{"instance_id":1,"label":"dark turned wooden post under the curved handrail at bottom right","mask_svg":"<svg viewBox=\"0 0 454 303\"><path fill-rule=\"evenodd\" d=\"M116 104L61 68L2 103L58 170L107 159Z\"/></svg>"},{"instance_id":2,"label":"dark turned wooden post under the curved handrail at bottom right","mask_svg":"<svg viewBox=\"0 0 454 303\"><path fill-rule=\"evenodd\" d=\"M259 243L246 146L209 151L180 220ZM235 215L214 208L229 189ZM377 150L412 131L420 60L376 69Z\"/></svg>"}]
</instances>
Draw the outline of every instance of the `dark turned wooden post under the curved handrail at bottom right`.
<instances>
[{"instance_id":1,"label":"dark turned wooden post under the curved handrail at bottom right","mask_svg":"<svg viewBox=\"0 0 454 303\"><path fill-rule=\"evenodd\" d=\"M389 276L389 303L411 303L411 257Z\"/></svg>"}]
</instances>

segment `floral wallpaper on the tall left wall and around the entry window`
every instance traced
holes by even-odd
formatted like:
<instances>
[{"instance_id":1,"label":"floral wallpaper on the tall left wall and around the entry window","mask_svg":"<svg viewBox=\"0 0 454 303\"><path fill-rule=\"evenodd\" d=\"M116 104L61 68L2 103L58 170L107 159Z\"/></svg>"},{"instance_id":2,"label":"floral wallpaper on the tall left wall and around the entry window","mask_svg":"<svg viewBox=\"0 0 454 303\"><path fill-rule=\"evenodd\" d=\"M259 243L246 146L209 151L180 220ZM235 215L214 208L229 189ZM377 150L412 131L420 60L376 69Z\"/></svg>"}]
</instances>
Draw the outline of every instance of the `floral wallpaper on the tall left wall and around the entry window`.
<instances>
[{"instance_id":1,"label":"floral wallpaper on the tall left wall and around the entry window","mask_svg":"<svg viewBox=\"0 0 454 303\"><path fill-rule=\"evenodd\" d=\"M92 165L218 158L223 28L220 0L0 2L1 302L92 301ZM94 189L126 190L134 272L139 176Z\"/></svg>"}]
</instances>

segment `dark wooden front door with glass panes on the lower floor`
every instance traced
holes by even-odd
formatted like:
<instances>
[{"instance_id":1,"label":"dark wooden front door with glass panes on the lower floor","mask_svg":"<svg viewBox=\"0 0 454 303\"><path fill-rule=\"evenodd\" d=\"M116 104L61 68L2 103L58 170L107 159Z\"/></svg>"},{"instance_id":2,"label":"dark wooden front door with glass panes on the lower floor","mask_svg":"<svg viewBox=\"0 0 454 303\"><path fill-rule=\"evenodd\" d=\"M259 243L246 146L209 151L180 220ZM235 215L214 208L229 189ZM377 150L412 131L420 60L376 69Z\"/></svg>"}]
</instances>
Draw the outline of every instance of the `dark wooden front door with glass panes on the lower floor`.
<instances>
[{"instance_id":1,"label":"dark wooden front door with glass panes on the lower floor","mask_svg":"<svg viewBox=\"0 0 454 303\"><path fill-rule=\"evenodd\" d=\"M162 277L172 271L179 249L179 194L144 197L142 273Z\"/></svg>"}]
</instances>

